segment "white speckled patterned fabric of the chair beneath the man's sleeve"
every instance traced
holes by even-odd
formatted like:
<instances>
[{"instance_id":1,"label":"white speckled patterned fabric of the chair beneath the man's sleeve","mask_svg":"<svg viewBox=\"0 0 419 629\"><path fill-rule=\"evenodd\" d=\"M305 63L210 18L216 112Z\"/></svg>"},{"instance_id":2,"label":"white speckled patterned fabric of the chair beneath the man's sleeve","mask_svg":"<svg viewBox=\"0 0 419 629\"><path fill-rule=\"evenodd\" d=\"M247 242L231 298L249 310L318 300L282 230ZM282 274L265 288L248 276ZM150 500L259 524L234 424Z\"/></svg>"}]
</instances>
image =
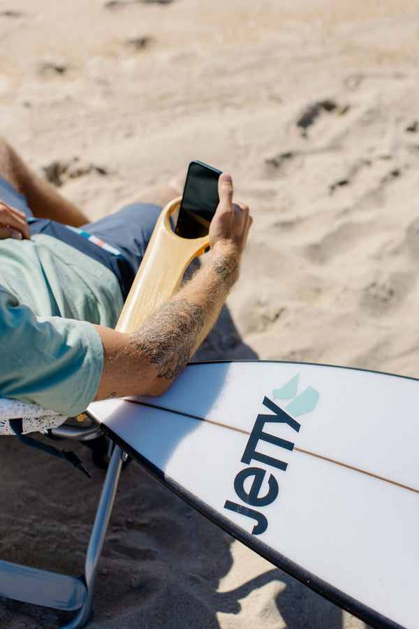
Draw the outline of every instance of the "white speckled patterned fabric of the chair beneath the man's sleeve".
<instances>
[{"instance_id":1,"label":"white speckled patterned fabric of the chair beneath the man's sleeve","mask_svg":"<svg viewBox=\"0 0 419 629\"><path fill-rule=\"evenodd\" d=\"M0 435L15 435L8 420L20 418L23 419L23 434L42 433L61 426L68 419L36 404L0 398Z\"/></svg>"}]
</instances>

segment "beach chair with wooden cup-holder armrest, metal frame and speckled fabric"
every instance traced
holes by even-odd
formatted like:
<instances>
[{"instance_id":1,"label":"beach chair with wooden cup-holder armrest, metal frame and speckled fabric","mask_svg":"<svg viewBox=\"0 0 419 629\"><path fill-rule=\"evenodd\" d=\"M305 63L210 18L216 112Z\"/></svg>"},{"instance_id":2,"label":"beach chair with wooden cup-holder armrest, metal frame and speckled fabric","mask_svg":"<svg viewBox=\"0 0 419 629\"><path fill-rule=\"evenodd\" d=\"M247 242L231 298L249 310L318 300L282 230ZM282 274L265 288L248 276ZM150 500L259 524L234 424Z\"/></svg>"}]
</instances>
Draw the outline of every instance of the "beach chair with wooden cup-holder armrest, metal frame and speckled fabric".
<instances>
[{"instance_id":1,"label":"beach chair with wooden cup-holder armrest, metal frame and speckled fabric","mask_svg":"<svg viewBox=\"0 0 419 629\"><path fill-rule=\"evenodd\" d=\"M119 317L116 326L119 331L135 330L161 303L170 298L191 260L202 254L208 247L207 236L185 240L176 236L172 231L170 215L177 210L180 201L181 198L174 199L161 212ZM138 307L138 304L141 304L141 308ZM8 416L3 415L3 417L9 420L22 419L22 417L49 417L54 424L53 416L57 417L57 414L36 407L36 405L29 405L28 408L28 405L20 405L19 407L19 404L17 403L17 408L19 408L17 411L14 401L3 400L3 406L10 410ZM61 417L62 421L63 418ZM98 434L103 434L96 426L84 429L78 428L78 426L60 424L59 426L51 425L50 430L53 436L76 440L89 440ZM72 577L36 567L0 561L0 596L52 607L53 609L78 612L73 620L66 623L61 629L82 628L87 623L91 612L98 562L122 463L127 458L120 447L116 444L111 445L112 454L91 530L83 574L80 577Z\"/></svg>"}]
</instances>

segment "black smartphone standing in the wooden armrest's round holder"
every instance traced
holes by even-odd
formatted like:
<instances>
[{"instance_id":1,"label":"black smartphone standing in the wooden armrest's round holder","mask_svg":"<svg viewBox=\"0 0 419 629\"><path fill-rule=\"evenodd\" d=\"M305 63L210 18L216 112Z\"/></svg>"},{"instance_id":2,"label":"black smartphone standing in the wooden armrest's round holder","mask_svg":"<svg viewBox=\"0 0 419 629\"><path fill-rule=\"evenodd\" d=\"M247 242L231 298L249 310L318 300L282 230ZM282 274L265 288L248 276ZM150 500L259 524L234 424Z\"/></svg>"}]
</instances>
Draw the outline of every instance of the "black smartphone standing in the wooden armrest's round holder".
<instances>
[{"instance_id":1,"label":"black smartphone standing in the wooden armrest's round holder","mask_svg":"<svg viewBox=\"0 0 419 629\"><path fill-rule=\"evenodd\" d=\"M176 233L182 238L206 236L219 204L218 180L221 171L202 161L191 161L186 175Z\"/></svg>"}]
</instances>

